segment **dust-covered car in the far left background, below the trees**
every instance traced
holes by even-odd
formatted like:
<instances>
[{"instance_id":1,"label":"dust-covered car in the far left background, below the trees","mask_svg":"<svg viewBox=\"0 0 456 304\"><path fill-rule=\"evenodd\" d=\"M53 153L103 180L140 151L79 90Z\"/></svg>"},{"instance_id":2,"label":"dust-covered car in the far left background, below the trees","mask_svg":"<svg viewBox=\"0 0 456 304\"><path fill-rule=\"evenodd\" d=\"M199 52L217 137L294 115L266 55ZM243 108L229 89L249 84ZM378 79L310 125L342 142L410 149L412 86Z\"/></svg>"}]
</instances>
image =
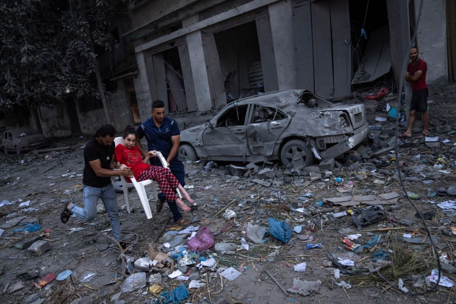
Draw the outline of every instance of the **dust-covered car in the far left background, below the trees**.
<instances>
[{"instance_id":1,"label":"dust-covered car in the far left background, below the trees","mask_svg":"<svg viewBox=\"0 0 456 304\"><path fill-rule=\"evenodd\" d=\"M35 129L29 127L6 129L3 132L3 151L8 154L15 151L17 154L44 147L48 140Z\"/></svg>"}]
</instances>

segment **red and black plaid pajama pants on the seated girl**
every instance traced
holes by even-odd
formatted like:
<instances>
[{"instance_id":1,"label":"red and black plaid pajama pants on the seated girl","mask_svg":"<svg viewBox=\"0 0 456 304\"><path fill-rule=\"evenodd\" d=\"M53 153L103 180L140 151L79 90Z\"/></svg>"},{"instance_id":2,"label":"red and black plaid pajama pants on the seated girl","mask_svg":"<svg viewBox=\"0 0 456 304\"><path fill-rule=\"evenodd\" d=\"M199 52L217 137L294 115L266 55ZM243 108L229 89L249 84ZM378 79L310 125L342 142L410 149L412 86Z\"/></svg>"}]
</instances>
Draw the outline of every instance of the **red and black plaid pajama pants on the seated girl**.
<instances>
[{"instance_id":1,"label":"red and black plaid pajama pants on the seated girl","mask_svg":"<svg viewBox=\"0 0 456 304\"><path fill-rule=\"evenodd\" d=\"M168 201L176 201L178 198L174 191L178 187L179 181L169 169L160 166L151 166L148 169L144 169L139 173L138 181L146 179L155 180Z\"/></svg>"}]
</instances>

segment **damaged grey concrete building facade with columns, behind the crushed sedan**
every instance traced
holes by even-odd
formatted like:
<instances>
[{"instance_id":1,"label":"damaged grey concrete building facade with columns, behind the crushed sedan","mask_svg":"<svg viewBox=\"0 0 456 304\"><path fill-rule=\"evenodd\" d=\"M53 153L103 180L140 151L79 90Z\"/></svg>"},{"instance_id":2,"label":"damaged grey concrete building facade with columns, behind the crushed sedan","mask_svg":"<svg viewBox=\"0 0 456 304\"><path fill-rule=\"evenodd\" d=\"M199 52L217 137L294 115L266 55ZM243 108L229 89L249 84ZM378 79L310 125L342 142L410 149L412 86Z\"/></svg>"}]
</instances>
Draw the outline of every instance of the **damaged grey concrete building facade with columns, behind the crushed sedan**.
<instances>
[{"instance_id":1,"label":"damaged grey concrete building facade with columns, behind the crushed sedan","mask_svg":"<svg viewBox=\"0 0 456 304\"><path fill-rule=\"evenodd\" d=\"M141 119L155 99L204 112L288 88L344 98L388 73L397 85L421 1L416 44L428 83L447 83L453 0L131 1L124 38L134 43Z\"/></svg>"}]
</instances>

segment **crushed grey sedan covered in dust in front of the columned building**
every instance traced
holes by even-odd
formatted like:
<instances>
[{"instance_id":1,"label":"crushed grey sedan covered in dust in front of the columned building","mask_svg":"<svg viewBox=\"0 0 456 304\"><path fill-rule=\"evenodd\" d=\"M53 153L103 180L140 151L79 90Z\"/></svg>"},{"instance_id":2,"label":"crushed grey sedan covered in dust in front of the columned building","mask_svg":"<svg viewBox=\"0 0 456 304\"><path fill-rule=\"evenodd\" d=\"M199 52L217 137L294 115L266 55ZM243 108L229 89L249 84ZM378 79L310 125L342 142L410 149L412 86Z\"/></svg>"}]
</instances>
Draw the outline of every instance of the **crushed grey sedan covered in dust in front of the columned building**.
<instances>
[{"instance_id":1,"label":"crushed grey sedan covered in dust in front of the columned building","mask_svg":"<svg viewBox=\"0 0 456 304\"><path fill-rule=\"evenodd\" d=\"M283 90L227 104L211 121L181 132L179 158L285 167L329 160L366 138L364 105L337 105L307 90Z\"/></svg>"}]
</instances>

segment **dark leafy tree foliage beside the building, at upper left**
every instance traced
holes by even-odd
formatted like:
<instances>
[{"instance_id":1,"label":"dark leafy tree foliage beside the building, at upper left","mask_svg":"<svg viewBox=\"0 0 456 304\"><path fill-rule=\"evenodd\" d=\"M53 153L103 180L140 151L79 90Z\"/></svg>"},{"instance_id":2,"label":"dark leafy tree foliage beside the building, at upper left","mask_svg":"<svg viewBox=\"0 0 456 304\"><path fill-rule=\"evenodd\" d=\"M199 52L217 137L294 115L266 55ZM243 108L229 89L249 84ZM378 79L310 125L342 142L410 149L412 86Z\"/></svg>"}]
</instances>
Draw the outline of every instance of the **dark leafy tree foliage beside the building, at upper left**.
<instances>
[{"instance_id":1,"label":"dark leafy tree foliage beside the building, at upper left","mask_svg":"<svg viewBox=\"0 0 456 304\"><path fill-rule=\"evenodd\" d=\"M0 2L0 111L99 98L94 47L109 51L110 0Z\"/></svg>"}]
</instances>

